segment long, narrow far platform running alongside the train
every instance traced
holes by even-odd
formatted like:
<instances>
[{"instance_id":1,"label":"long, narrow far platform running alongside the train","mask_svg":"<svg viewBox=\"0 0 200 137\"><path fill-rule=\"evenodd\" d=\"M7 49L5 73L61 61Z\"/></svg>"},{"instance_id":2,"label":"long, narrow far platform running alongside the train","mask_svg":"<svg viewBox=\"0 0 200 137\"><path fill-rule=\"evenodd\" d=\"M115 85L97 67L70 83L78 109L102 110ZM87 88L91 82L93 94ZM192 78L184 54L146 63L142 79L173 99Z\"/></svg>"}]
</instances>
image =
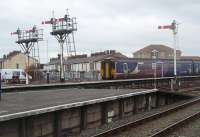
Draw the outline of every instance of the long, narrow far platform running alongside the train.
<instances>
[{"instance_id":1,"label":"long, narrow far platform running alongside the train","mask_svg":"<svg viewBox=\"0 0 200 137\"><path fill-rule=\"evenodd\" d=\"M3 86L3 92L21 92L32 90L46 90L46 89L62 89L62 88L145 88L152 89L156 87L158 89L166 88L167 90L174 90L176 86L178 88L184 88L191 86L190 84L200 83L200 76L179 76L177 83L174 84L174 77L159 77L159 78L141 78L141 79L122 79L122 80L102 80L102 81L86 81L86 82L69 82L69 83L51 83L51 84L37 84L37 85L14 85Z\"/></svg>"}]
</instances>

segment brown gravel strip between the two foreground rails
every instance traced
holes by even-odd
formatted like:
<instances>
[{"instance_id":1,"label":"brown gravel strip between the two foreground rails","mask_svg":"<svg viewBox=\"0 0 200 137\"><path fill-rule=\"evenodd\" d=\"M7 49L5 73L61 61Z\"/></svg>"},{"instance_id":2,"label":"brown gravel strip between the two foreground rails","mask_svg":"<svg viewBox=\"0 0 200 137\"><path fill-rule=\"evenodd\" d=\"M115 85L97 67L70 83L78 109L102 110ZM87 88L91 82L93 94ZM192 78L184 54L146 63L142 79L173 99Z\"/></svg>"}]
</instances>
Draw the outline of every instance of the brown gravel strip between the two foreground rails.
<instances>
[{"instance_id":1,"label":"brown gravel strip between the two foreground rails","mask_svg":"<svg viewBox=\"0 0 200 137\"><path fill-rule=\"evenodd\" d=\"M149 121L135 128L131 128L129 131L125 131L119 135L115 135L115 137L148 137L160 131L161 129L198 111L200 111L200 102L168 114L167 116L155 119L154 121Z\"/></svg>"}]
</instances>

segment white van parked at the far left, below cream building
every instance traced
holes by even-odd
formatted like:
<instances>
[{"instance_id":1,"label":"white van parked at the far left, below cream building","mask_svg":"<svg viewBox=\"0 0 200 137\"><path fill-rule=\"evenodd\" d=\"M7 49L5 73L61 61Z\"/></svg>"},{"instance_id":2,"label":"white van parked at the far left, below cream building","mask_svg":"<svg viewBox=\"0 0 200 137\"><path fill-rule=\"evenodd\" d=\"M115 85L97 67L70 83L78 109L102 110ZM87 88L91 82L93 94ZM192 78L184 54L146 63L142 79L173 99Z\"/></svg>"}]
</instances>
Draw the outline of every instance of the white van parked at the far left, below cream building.
<instances>
[{"instance_id":1,"label":"white van parked at the far left, below cream building","mask_svg":"<svg viewBox=\"0 0 200 137\"><path fill-rule=\"evenodd\" d=\"M5 83L25 83L26 73L23 69L0 69L1 80Z\"/></svg>"}]
</instances>

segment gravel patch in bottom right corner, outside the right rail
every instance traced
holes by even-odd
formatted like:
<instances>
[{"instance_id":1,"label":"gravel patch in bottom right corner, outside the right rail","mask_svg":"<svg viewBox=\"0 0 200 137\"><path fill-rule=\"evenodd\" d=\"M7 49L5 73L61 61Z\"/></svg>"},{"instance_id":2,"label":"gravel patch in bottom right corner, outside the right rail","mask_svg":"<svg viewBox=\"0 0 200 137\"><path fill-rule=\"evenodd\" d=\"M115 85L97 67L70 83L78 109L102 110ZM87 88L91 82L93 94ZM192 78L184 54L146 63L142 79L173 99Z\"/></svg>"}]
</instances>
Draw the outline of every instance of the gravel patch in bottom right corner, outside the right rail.
<instances>
[{"instance_id":1,"label":"gravel patch in bottom right corner, outside the right rail","mask_svg":"<svg viewBox=\"0 0 200 137\"><path fill-rule=\"evenodd\" d=\"M200 118L189 122L164 137L200 137Z\"/></svg>"}]
</instances>

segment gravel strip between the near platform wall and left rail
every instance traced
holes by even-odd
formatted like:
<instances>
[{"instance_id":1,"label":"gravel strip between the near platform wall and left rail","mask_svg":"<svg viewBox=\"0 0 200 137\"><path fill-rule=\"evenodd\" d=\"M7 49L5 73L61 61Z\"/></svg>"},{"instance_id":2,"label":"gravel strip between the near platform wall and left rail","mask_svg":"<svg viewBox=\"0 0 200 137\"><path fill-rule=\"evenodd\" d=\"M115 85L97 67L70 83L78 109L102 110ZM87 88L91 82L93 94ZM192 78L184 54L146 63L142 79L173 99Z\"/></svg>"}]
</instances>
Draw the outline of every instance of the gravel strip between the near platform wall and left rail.
<instances>
[{"instance_id":1,"label":"gravel strip between the near platform wall and left rail","mask_svg":"<svg viewBox=\"0 0 200 137\"><path fill-rule=\"evenodd\" d=\"M109 129L112 129L114 127L117 127L119 125L123 125L123 124L126 124L128 122L135 121L135 120L138 120L140 118L144 118L144 117L147 117L149 115L153 115L155 113L158 113L160 111L164 111L164 110L167 110L169 108L178 106L178 105L183 104L187 101L188 100L183 100L183 101L176 102L176 103L173 103L173 104L170 104L170 105L160 106L159 108L152 109L151 111L148 111L148 112L140 112L140 113L134 114L132 116L125 117L121 120L114 121L110 124L102 125L101 127L98 127L96 129L86 129L86 130L82 131L82 133L80 135L78 135L76 137L90 137L92 135L101 133L105 130L109 130Z\"/></svg>"}]
</instances>

